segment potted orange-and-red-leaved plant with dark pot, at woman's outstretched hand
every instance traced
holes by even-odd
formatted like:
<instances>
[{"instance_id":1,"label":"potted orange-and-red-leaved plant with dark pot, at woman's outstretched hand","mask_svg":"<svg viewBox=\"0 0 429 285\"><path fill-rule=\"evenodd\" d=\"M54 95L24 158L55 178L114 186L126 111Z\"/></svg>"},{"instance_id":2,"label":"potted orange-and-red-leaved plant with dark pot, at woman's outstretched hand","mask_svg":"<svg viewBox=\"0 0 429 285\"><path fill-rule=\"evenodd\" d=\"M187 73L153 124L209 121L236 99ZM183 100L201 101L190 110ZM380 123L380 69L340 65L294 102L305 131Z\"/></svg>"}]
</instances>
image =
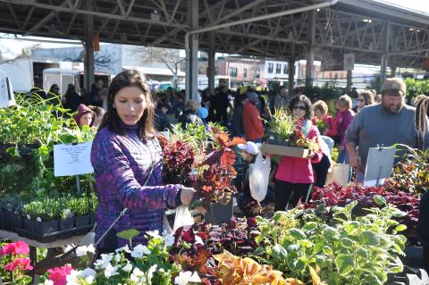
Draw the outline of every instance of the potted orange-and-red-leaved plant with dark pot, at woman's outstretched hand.
<instances>
[{"instance_id":1,"label":"potted orange-and-red-leaved plant with dark pot, at woman's outstretched hand","mask_svg":"<svg viewBox=\"0 0 429 285\"><path fill-rule=\"evenodd\" d=\"M232 217L232 195L236 193L232 180L237 172L235 152L231 149L240 143L246 143L243 138L230 138L222 130L212 128L214 133L214 150L210 151L201 163L197 163L197 173L194 174L194 189L196 197L201 199L207 208L206 222L219 224L229 222Z\"/></svg>"}]
</instances>

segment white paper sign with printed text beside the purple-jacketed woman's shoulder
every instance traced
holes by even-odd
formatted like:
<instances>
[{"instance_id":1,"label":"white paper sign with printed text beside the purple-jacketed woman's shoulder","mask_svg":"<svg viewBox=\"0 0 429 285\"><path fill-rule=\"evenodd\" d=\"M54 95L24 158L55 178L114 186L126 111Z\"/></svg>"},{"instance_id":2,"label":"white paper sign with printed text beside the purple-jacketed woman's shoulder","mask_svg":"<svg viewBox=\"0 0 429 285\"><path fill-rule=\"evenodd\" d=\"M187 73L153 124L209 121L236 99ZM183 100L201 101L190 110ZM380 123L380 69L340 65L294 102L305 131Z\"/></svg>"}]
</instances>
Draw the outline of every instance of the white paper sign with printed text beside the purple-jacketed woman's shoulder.
<instances>
[{"instance_id":1,"label":"white paper sign with printed text beside the purple-jacketed woman's shoulder","mask_svg":"<svg viewBox=\"0 0 429 285\"><path fill-rule=\"evenodd\" d=\"M90 161L91 147L92 141L77 145L55 145L55 176L79 175L94 172Z\"/></svg>"}]
</instances>

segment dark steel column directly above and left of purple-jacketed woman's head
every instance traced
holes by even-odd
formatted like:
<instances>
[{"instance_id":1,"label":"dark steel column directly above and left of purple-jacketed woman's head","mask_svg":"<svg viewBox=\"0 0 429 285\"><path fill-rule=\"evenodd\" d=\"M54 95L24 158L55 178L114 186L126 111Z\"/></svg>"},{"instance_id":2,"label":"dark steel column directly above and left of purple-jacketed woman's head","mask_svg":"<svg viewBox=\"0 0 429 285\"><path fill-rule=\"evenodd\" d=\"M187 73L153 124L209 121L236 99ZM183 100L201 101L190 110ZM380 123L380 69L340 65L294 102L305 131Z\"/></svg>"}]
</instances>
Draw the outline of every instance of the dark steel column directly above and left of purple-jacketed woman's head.
<instances>
[{"instance_id":1,"label":"dark steel column directly above and left of purple-jacketed woman's head","mask_svg":"<svg viewBox=\"0 0 429 285\"><path fill-rule=\"evenodd\" d=\"M93 11L93 0L87 0L87 10ZM86 37L84 47L84 86L87 93L91 91L91 86L94 83L94 45L92 38L94 37L94 16L88 14L86 19Z\"/></svg>"}]
</instances>

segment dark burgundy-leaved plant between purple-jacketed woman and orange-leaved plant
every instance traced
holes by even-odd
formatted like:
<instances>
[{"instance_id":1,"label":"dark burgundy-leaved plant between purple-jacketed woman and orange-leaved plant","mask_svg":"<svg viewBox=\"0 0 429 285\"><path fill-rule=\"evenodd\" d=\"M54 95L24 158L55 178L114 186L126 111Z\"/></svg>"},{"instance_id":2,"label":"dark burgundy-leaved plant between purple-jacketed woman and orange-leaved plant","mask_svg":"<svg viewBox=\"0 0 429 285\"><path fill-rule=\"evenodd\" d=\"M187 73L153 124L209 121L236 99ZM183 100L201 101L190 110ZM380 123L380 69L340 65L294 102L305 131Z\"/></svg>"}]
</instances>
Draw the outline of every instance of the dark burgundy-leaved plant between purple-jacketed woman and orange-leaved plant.
<instances>
[{"instance_id":1,"label":"dark burgundy-leaved plant between purple-jacketed woman and orange-leaved plant","mask_svg":"<svg viewBox=\"0 0 429 285\"><path fill-rule=\"evenodd\" d=\"M169 141L164 136L159 137L163 148L164 171L163 179L166 184L182 184L190 186L194 151L188 143L181 140Z\"/></svg>"}]
</instances>

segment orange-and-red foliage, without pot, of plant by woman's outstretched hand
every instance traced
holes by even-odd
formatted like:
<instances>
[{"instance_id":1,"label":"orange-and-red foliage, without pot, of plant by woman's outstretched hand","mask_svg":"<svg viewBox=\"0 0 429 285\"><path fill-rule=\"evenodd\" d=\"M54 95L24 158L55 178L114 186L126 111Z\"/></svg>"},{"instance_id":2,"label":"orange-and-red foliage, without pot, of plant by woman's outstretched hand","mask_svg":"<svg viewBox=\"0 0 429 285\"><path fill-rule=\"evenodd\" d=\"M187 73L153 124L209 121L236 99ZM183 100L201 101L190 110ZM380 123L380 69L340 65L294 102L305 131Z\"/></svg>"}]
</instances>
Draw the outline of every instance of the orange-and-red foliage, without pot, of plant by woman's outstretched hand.
<instances>
[{"instance_id":1,"label":"orange-and-red foliage, without pot, of plant by woman's outstretched hand","mask_svg":"<svg viewBox=\"0 0 429 285\"><path fill-rule=\"evenodd\" d=\"M215 139L214 150L206 155L201 163L197 163L198 173L194 177L194 189L197 197L206 203L230 202L232 194L236 192L232 180L237 172L234 169L235 152L232 146L245 144L243 138L230 138L228 134L217 128L212 128Z\"/></svg>"}]
</instances>

